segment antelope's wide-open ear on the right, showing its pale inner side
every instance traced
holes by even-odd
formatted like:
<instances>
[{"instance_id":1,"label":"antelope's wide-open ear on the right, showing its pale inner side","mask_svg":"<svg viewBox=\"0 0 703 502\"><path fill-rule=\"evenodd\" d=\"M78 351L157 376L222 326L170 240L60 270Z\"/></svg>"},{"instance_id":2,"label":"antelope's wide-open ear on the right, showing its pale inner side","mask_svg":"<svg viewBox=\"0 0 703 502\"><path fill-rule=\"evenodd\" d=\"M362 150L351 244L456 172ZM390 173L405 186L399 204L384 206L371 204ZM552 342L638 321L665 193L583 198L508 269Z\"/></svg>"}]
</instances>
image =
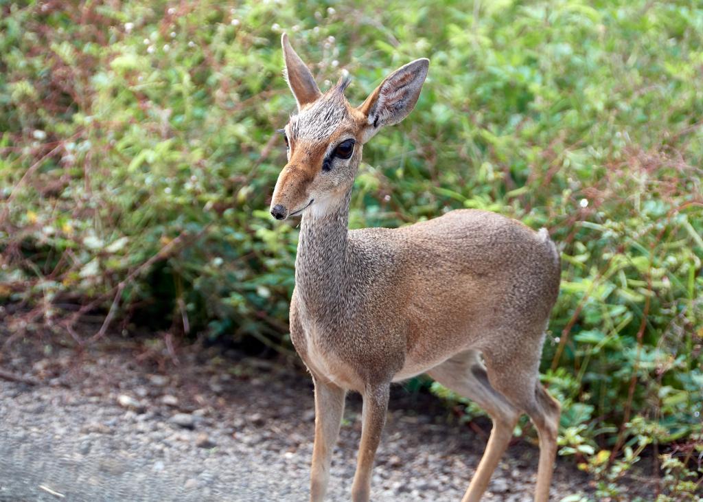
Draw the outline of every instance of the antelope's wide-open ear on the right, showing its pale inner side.
<instances>
[{"instance_id":1,"label":"antelope's wide-open ear on the right, showing its pale inner side","mask_svg":"<svg viewBox=\"0 0 703 502\"><path fill-rule=\"evenodd\" d=\"M366 116L363 141L383 126L397 124L413 111L423 89L430 60L416 59L395 70L373 91L358 110Z\"/></svg>"}]
</instances>

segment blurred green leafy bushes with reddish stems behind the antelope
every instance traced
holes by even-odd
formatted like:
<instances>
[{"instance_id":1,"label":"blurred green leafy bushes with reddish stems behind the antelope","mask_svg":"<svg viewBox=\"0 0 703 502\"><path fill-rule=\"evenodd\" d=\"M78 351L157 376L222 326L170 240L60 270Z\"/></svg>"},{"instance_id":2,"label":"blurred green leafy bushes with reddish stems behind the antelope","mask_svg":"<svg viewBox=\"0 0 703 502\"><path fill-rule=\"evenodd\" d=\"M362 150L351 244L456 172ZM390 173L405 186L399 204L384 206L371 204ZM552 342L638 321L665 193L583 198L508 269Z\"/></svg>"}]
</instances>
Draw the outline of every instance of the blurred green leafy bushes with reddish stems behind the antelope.
<instances>
[{"instance_id":1,"label":"blurred green leafy bushes with reddish stems behind the antelope","mask_svg":"<svg viewBox=\"0 0 703 502\"><path fill-rule=\"evenodd\" d=\"M286 30L352 102L432 61L364 149L351 224L458 207L546 226L562 289L543 380L597 498L703 455L703 5L697 0L0 2L0 321L136 327L290 352L295 224L267 205L295 101ZM475 406L437 385L459 406ZM526 423L522 423L526 425ZM652 446L650 446L652 445ZM581 500L574 495L572 500ZM624 498L622 498L624 497Z\"/></svg>"}]
</instances>

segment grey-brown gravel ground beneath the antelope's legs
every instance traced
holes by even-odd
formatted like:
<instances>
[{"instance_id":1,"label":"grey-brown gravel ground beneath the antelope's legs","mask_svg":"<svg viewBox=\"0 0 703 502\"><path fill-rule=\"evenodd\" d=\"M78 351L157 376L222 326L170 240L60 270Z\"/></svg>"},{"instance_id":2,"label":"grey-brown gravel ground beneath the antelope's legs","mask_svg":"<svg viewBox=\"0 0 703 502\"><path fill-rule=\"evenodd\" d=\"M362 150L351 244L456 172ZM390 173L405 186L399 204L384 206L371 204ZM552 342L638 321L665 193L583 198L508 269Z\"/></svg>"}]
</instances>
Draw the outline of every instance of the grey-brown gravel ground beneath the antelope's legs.
<instances>
[{"instance_id":1,"label":"grey-brown gravel ground beneath the antelope's legs","mask_svg":"<svg viewBox=\"0 0 703 502\"><path fill-rule=\"evenodd\" d=\"M312 386L290 367L127 340L82 352L18 341L0 367L35 382L0 380L0 501L307 500ZM431 396L393 394L373 501L460 500L489 425L457 425ZM349 500L360 419L351 396L330 501ZM537 456L516 440L485 499L531 500ZM587 488L557 462L553 500Z\"/></svg>"}]
</instances>

